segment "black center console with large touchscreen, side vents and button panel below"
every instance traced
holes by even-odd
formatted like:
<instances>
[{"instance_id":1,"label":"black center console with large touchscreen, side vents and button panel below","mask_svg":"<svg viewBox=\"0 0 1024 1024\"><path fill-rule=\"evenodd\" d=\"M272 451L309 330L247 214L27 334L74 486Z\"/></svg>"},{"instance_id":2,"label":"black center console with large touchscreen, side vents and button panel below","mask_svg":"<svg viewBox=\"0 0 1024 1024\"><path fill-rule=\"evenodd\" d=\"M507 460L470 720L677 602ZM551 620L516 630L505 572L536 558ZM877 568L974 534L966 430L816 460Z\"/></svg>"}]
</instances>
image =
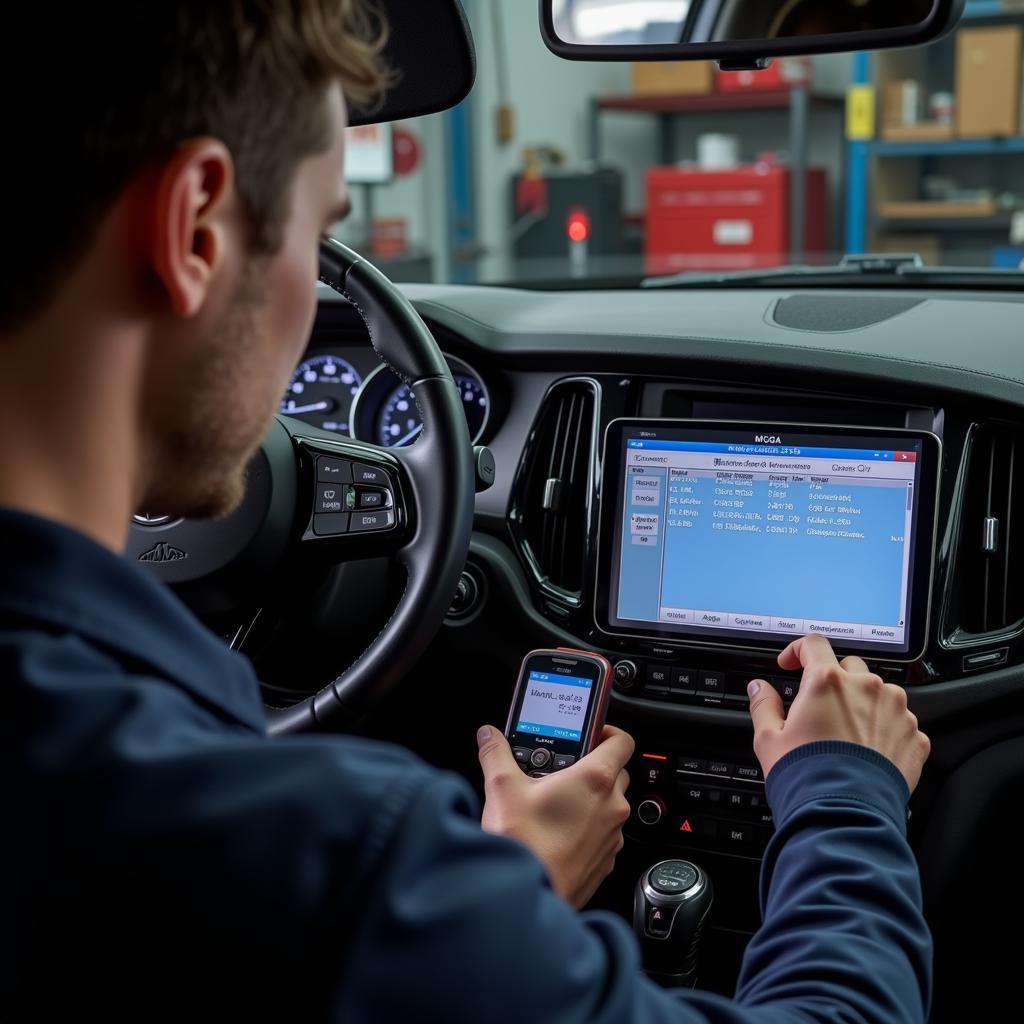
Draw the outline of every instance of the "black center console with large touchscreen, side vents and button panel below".
<instances>
[{"instance_id":1,"label":"black center console with large touchscreen, side vents and button panel below","mask_svg":"<svg viewBox=\"0 0 1024 1024\"><path fill-rule=\"evenodd\" d=\"M723 991L760 922L775 824L750 681L791 705L800 674L777 655L808 634L914 690L1024 663L1019 556L998 541L1020 505L1018 434L979 408L890 395L566 378L513 480L534 606L560 642L610 660L610 720L636 739L615 874L666 858L707 871L701 962Z\"/></svg>"}]
</instances>

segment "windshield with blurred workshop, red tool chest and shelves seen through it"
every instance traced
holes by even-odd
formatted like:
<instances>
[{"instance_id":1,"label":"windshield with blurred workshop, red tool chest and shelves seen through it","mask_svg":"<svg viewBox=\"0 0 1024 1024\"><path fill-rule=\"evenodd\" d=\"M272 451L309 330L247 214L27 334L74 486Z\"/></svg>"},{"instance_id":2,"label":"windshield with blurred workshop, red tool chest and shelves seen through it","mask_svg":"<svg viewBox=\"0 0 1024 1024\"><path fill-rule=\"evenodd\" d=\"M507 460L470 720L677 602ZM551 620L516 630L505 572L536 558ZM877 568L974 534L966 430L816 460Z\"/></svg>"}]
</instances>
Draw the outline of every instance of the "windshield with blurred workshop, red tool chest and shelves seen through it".
<instances>
[{"instance_id":1,"label":"windshield with blurred workshop, red tool chest and shelves seen through it","mask_svg":"<svg viewBox=\"0 0 1024 1024\"><path fill-rule=\"evenodd\" d=\"M581 36L678 24L688 0L562 0ZM928 47L707 62L565 61L537 4L467 4L477 84L454 111L352 129L337 232L393 280L635 287L845 254L1024 259L1024 12L969 0Z\"/></svg>"}]
</instances>

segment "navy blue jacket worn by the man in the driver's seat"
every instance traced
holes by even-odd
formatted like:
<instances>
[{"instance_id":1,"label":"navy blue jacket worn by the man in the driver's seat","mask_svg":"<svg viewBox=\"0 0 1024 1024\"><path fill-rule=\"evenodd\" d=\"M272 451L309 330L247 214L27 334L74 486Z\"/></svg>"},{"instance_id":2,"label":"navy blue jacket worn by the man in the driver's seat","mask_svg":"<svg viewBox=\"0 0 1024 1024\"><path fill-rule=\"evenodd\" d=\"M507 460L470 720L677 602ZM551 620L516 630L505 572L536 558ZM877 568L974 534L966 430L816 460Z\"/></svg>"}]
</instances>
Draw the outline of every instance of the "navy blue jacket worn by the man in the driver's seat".
<instances>
[{"instance_id":1,"label":"navy blue jacket worn by the man in the driver's seat","mask_svg":"<svg viewBox=\"0 0 1024 1024\"><path fill-rule=\"evenodd\" d=\"M922 1021L906 783L846 743L767 779L777 831L734 1000L667 993L461 778L270 740L249 664L137 566L0 512L0 1019Z\"/></svg>"}]
</instances>

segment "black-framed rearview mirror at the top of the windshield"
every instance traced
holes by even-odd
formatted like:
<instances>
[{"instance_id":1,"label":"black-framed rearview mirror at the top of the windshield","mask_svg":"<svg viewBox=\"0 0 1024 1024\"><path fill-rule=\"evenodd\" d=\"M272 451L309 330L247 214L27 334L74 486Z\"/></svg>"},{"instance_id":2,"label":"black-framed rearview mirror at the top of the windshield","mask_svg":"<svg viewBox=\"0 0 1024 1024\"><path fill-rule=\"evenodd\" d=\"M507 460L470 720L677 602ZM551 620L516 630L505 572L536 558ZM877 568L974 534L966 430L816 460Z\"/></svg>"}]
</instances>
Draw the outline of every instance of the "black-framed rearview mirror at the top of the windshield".
<instances>
[{"instance_id":1,"label":"black-framed rearview mirror at the top of the windshield","mask_svg":"<svg viewBox=\"0 0 1024 1024\"><path fill-rule=\"evenodd\" d=\"M703 60L758 67L794 53L930 42L965 0L541 0L548 48L570 60Z\"/></svg>"}]
</instances>

